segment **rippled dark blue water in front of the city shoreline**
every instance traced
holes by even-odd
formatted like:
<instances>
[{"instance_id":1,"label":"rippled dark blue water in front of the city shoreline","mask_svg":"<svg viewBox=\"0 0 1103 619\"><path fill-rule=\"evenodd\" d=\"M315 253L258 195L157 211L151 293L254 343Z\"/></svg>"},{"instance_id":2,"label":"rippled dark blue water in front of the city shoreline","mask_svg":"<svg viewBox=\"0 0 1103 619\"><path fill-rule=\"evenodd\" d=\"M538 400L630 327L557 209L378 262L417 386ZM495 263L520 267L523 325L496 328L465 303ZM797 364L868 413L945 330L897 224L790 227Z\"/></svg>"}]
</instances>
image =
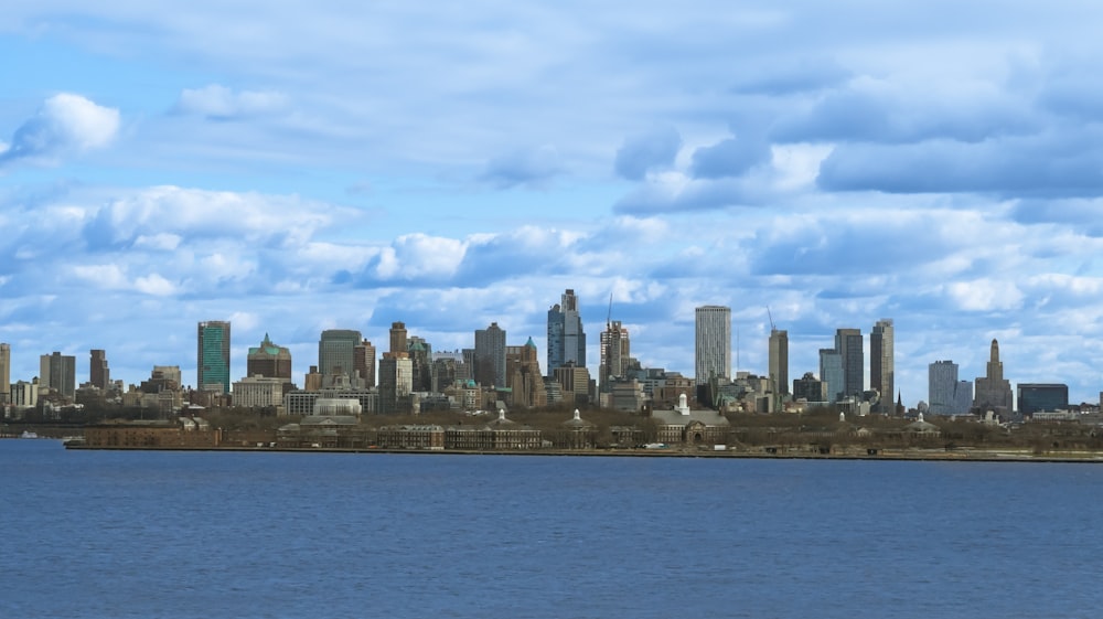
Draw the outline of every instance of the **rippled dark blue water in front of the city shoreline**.
<instances>
[{"instance_id":1,"label":"rippled dark blue water in front of the city shoreline","mask_svg":"<svg viewBox=\"0 0 1103 619\"><path fill-rule=\"evenodd\" d=\"M0 440L0 616L1097 617L1103 466Z\"/></svg>"}]
</instances>

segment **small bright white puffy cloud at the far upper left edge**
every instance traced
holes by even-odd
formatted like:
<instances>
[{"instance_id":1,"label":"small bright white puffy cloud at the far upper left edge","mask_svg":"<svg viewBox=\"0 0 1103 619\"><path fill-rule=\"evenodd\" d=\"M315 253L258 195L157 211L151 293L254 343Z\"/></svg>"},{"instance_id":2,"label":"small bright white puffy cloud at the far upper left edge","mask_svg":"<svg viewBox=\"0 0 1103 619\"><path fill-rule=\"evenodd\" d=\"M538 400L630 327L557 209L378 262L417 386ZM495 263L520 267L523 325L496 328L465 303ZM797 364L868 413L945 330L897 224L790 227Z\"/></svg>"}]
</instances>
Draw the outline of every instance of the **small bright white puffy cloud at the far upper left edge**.
<instances>
[{"instance_id":1,"label":"small bright white puffy cloud at the far upper left edge","mask_svg":"<svg viewBox=\"0 0 1103 619\"><path fill-rule=\"evenodd\" d=\"M20 159L53 161L108 146L119 131L119 110L62 93L46 99L39 113L12 136L0 152L0 166Z\"/></svg>"}]
</instances>

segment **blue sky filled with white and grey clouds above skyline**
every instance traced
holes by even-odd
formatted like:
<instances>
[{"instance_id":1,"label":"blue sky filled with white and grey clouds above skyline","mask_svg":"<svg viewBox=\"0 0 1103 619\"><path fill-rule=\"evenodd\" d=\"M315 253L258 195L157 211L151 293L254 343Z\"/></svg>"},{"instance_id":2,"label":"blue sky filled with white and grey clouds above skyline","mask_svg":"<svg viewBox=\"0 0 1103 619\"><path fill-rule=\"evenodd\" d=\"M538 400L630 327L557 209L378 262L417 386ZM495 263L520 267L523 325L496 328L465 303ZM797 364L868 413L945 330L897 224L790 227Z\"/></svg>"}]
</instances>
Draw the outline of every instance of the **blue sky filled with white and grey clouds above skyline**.
<instances>
[{"instance_id":1,"label":"blue sky filled with white and grey clouds above skyline","mask_svg":"<svg viewBox=\"0 0 1103 619\"><path fill-rule=\"evenodd\" d=\"M105 349L193 384L203 320L235 380L265 333L301 381L322 330L396 320L543 362L571 288L591 373L611 317L692 375L726 305L740 371L771 319L792 380L890 318L908 405L993 339L1013 384L1103 389L1103 6L96 4L0 12L12 381Z\"/></svg>"}]
</instances>

